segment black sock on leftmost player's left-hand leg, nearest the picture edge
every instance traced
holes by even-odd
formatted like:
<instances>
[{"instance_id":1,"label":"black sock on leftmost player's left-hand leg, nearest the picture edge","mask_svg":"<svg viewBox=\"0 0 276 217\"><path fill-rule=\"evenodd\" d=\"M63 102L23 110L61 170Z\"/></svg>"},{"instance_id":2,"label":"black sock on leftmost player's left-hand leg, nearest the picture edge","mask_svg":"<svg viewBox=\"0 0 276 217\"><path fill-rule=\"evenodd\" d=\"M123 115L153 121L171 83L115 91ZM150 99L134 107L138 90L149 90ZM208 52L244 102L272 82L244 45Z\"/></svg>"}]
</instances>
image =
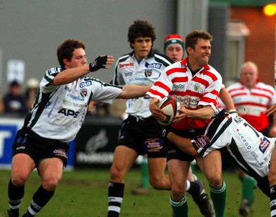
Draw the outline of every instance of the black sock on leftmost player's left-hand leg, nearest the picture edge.
<instances>
[{"instance_id":1,"label":"black sock on leftmost player's left-hand leg, nearest the picture edge","mask_svg":"<svg viewBox=\"0 0 276 217\"><path fill-rule=\"evenodd\" d=\"M8 198L10 209L19 209L23 196L24 185L21 187L17 187L13 185L12 180L10 180L8 184Z\"/></svg>"}]
</instances>

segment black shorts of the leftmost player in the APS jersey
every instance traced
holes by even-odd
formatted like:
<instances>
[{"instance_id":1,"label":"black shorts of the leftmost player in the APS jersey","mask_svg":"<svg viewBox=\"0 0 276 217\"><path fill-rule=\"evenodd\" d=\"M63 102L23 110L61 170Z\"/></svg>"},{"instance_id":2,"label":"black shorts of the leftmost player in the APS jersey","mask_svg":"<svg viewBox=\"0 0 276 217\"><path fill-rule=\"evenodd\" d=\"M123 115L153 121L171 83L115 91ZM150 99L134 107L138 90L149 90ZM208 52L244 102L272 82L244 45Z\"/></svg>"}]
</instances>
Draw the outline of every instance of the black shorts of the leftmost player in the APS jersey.
<instances>
[{"instance_id":1,"label":"black shorts of the leftmost player in the APS jersey","mask_svg":"<svg viewBox=\"0 0 276 217\"><path fill-rule=\"evenodd\" d=\"M66 167L68 151L68 143L42 138L30 129L17 131L12 144L12 156L17 153L26 153L34 160L36 167L41 160L46 158L61 158L64 167Z\"/></svg>"}]
</instances>

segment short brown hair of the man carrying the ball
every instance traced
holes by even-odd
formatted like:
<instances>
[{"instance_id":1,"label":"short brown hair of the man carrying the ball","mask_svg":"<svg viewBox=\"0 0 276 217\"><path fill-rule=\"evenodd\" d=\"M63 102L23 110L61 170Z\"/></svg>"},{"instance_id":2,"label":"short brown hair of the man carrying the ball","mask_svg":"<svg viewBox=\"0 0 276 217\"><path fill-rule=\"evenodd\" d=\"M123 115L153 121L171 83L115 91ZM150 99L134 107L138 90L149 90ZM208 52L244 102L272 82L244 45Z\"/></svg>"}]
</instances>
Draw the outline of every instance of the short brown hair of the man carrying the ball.
<instances>
[{"instance_id":1,"label":"short brown hair of the man carrying the ball","mask_svg":"<svg viewBox=\"0 0 276 217\"><path fill-rule=\"evenodd\" d=\"M188 33L185 37L185 50L187 51L187 48L193 48L195 50L195 45L197 44L197 41L199 39L204 39L208 41L213 41L213 36L210 35L209 32L206 32L204 30L195 30L193 32Z\"/></svg>"}]
</instances>

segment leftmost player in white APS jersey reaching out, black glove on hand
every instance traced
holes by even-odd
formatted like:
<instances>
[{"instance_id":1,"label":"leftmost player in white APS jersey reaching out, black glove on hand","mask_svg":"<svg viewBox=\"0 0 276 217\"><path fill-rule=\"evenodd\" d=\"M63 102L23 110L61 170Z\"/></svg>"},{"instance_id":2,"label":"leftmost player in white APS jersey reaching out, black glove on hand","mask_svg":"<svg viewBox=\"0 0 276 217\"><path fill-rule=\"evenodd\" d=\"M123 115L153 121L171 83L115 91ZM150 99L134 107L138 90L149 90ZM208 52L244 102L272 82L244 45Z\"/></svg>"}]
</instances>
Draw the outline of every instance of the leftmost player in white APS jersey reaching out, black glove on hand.
<instances>
[{"instance_id":1,"label":"leftmost player in white APS jersey reaching out, black glove on hand","mask_svg":"<svg viewBox=\"0 0 276 217\"><path fill-rule=\"evenodd\" d=\"M86 62L86 46L68 39L57 49L59 67L46 70L36 99L12 145L12 171L8 185L8 216L19 216L24 185L37 168L41 185L24 217L36 216L52 198L68 159L68 142L81 128L90 101L112 103L115 98L145 95L150 86L115 86L86 74L108 68L114 59L101 55Z\"/></svg>"}]
</instances>

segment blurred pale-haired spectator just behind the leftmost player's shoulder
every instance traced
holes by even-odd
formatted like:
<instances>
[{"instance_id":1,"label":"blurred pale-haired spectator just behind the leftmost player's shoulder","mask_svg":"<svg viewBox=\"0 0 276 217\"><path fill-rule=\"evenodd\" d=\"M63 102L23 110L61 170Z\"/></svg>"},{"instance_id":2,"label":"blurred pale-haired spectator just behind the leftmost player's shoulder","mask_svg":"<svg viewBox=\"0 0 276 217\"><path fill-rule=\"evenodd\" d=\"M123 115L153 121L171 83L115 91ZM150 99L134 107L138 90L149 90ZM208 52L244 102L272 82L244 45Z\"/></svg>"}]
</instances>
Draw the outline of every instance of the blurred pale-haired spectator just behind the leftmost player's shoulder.
<instances>
[{"instance_id":1,"label":"blurred pale-haired spectator just behind the leftmost player's shoulder","mask_svg":"<svg viewBox=\"0 0 276 217\"><path fill-rule=\"evenodd\" d=\"M34 103L35 96L37 95L37 90L39 89L39 80L31 77L27 80L27 88L25 92L27 100L27 109L32 109L32 104Z\"/></svg>"}]
</instances>

